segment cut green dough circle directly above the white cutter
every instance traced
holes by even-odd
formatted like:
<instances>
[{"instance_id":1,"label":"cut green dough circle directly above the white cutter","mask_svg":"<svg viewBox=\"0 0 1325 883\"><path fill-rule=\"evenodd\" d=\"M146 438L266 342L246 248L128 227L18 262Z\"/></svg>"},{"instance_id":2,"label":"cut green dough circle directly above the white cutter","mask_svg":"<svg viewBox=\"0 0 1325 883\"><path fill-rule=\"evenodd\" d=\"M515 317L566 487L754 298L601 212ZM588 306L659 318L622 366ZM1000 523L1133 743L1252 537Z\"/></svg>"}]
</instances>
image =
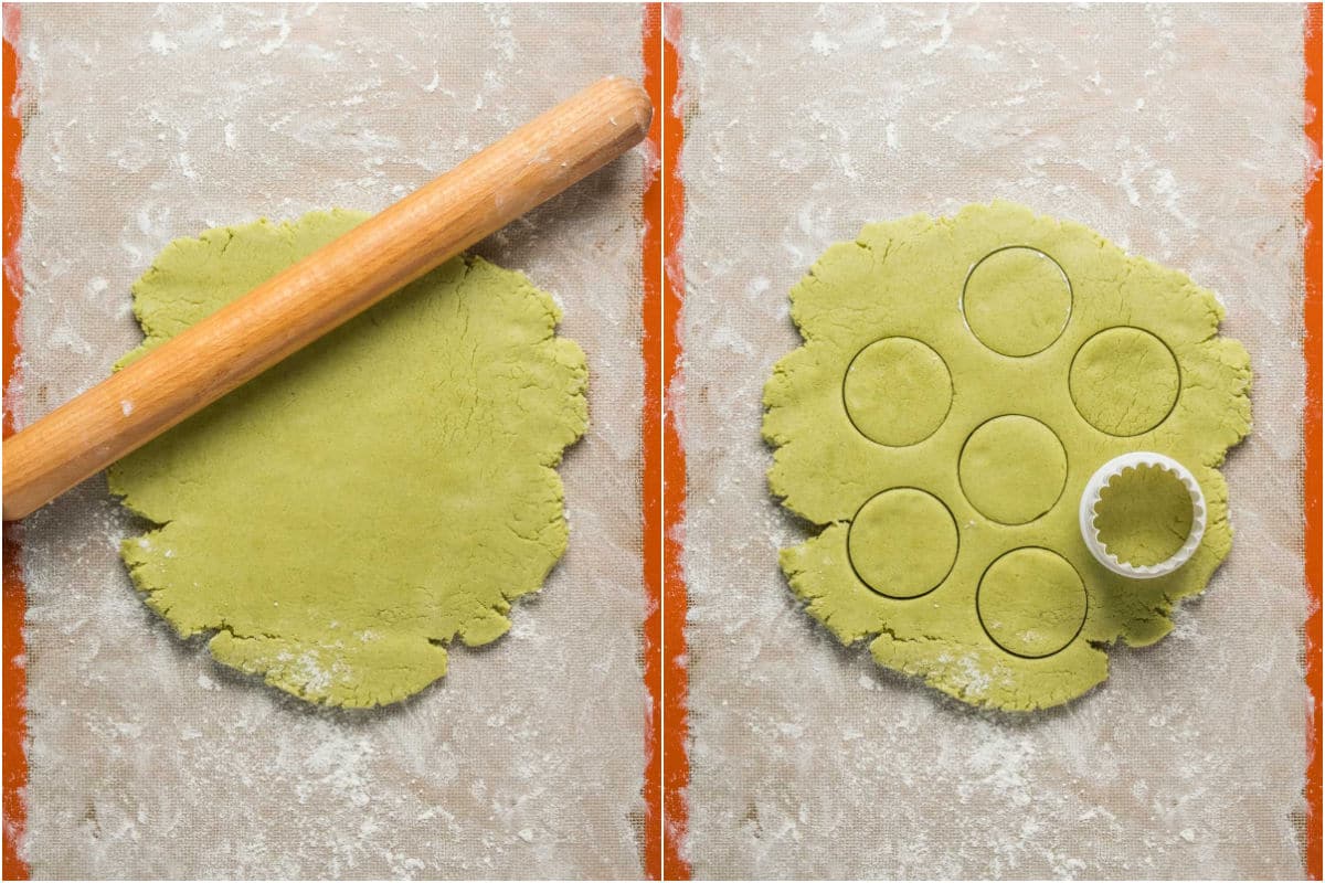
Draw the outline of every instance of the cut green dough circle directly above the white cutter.
<instances>
[{"instance_id":1,"label":"cut green dough circle directly above the white cutter","mask_svg":"<svg viewBox=\"0 0 1325 883\"><path fill-rule=\"evenodd\" d=\"M1068 373L1077 412L1110 436L1140 436L1162 424L1181 385L1165 342L1130 327L1106 328L1086 340Z\"/></svg>"}]
</instances>

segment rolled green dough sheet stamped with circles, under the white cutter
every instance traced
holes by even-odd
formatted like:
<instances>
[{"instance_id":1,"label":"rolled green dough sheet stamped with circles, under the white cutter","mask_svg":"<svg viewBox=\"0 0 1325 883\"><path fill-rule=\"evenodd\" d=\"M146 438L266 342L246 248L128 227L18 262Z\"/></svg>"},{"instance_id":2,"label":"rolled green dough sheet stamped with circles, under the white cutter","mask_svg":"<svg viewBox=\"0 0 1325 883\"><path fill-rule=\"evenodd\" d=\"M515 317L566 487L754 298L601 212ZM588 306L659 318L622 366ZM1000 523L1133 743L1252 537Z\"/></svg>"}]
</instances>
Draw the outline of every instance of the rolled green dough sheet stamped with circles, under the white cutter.
<instances>
[{"instance_id":1,"label":"rolled green dough sheet stamped with circles, under the white cutter","mask_svg":"<svg viewBox=\"0 0 1325 883\"><path fill-rule=\"evenodd\" d=\"M816 531L782 569L878 665L977 706L1060 704L1106 678L1109 645L1167 634L1228 555L1218 467L1251 428L1251 364L1182 273L994 203L865 226L791 304L768 485ZM1191 561L1154 580L1110 573L1077 524L1092 473L1133 450L1187 466L1208 504ZM1153 557L1186 531L1146 488L1101 530Z\"/></svg>"}]
</instances>

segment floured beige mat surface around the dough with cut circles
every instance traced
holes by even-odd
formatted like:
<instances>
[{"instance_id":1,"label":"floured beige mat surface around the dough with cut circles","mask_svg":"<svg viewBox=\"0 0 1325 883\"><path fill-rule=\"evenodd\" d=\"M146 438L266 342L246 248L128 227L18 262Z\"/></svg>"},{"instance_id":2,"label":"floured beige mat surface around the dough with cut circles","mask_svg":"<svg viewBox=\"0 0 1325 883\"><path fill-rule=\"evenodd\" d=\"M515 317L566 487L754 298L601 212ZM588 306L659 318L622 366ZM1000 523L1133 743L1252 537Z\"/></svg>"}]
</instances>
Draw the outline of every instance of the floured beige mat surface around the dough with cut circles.
<instances>
[{"instance_id":1,"label":"floured beige mat surface around the dough with cut circles","mask_svg":"<svg viewBox=\"0 0 1325 883\"><path fill-rule=\"evenodd\" d=\"M684 387L700 878L1295 878L1302 683L1302 8L692 5ZM787 291L871 220L995 197L1219 293L1255 428L1234 551L1063 708L980 714L798 609L759 396Z\"/></svg>"}]
</instances>

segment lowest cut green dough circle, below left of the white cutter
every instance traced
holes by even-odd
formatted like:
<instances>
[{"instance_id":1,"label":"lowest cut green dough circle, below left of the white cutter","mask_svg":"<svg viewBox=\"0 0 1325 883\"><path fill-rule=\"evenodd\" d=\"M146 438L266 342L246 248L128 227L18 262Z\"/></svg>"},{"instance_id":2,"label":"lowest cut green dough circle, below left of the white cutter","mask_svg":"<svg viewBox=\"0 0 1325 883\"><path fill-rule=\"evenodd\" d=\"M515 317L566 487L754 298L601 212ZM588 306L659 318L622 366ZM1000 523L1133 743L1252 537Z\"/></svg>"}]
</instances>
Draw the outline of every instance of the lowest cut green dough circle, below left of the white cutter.
<instances>
[{"instance_id":1,"label":"lowest cut green dough circle, below left of the white cutter","mask_svg":"<svg viewBox=\"0 0 1325 883\"><path fill-rule=\"evenodd\" d=\"M1051 657L1072 643L1086 614L1085 585L1067 559L1012 549L980 577L975 608L990 639L1016 657Z\"/></svg>"}]
</instances>

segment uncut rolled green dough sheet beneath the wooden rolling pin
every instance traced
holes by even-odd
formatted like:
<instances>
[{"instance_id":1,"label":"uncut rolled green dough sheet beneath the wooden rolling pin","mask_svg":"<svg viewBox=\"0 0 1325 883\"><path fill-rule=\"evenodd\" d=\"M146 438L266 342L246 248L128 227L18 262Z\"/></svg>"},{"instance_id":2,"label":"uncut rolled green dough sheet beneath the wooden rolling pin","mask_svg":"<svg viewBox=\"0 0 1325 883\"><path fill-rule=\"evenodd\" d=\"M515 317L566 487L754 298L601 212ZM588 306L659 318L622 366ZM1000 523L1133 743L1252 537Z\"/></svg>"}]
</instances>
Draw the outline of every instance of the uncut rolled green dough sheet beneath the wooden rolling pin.
<instances>
[{"instance_id":1,"label":"uncut rolled green dough sheet beneath the wooden rolling pin","mask_svg":"<svg viewBox=\"0 0 1325 883\"><path fill-rule=\"evenodd\" d=\"M362 222L334 210L171 242L127 364ZM456 258L110 469L159 527L121 555L180 635L309 702L368 707L510 627L566 551L555 466L587 368L551 298ZM126 408L131 402L126 402Z\"/></svg>"}]
</instances>

